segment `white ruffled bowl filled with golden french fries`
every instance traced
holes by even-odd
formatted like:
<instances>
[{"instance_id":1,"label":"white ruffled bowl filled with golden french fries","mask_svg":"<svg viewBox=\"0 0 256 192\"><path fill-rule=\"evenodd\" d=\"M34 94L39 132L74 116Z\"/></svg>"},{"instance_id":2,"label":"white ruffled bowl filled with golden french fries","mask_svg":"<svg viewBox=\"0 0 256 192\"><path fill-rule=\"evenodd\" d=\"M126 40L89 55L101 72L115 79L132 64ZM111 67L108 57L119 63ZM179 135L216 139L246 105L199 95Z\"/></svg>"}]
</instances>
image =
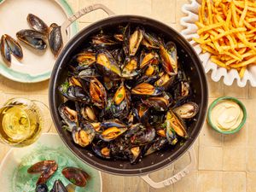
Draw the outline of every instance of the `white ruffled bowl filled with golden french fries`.
<instances>
[{"instance_id":1,"label":"white ruffled bowl filled with golden french fries","mask_svg":"<svg viewBox=\"0 0 256 192\"><path fill-rule=\"evenodd\" d=\"M256 86L256 1L190 0L181 32L212 80Z\"/></svg>"}]
</instances>

